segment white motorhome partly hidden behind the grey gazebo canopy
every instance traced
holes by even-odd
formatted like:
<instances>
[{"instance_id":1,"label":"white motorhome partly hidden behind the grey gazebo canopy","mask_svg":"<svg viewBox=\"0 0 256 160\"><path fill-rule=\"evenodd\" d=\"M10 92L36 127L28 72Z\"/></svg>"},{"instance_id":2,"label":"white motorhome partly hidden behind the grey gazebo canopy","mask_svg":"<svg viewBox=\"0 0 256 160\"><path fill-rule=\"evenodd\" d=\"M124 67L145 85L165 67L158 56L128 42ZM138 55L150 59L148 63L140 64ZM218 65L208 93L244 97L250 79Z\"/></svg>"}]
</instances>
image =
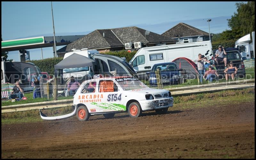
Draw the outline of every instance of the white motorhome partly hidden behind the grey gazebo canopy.
<instances>
[{"instance_id":1,"label":"white motorhome partly hidden behind the grey gazebo canopy","mask_svg":"<svg viewBox=\"0 0 256 160\"><path fill-rule=\"evenodd\" d=\"M73 53L76 53L78 55L83 55L85 57L89 57L92 53L99 53L97 50L88 50L88 48L83 49L72 49L72 52L68 52L64 55L64 58L67 58L68 56L72 55ZM71 76L74 77L83 77L85 75L93 76L92 68L91 67L77 67L77 68L67 68L63 69L63 78L68 78Z\"/></svg>"}]
</instances>

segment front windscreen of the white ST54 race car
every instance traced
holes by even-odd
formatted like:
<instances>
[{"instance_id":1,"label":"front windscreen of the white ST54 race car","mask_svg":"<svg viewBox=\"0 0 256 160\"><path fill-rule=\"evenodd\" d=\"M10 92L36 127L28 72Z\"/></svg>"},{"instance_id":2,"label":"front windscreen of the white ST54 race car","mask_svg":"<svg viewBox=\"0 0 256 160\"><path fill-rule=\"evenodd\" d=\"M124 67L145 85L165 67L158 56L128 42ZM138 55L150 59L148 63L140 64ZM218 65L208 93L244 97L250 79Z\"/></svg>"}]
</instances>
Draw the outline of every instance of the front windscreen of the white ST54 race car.
<instances>
[{"instance_id":1,"label":"front windscreen of the white ST54 race car","mask_svg":"<svg viewBox=\"0 0 256 160\"><path fill-rule=\"evenodd\" d=\"M136 78L116 78L116 82L121 86L124 91L148 88Z\"/></svg>"}]
</instances>

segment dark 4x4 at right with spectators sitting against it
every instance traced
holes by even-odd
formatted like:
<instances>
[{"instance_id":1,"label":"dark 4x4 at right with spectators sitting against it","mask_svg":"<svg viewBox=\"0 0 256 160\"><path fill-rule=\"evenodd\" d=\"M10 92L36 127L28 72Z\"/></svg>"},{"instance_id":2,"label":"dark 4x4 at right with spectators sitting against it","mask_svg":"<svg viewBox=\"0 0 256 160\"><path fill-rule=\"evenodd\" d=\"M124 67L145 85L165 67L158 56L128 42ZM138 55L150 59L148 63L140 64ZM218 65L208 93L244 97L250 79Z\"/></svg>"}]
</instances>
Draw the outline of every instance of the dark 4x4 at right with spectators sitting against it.
<instances>
[{"instance_id":1,"label":"dark 4x4 at right with spectators sitting against it","mask_svg":"<svg viewBox=\"0 0 256 160\"><path fill-rule=\"evenodd\" d=\"M246 60L246 57L242 57L240 52L238 51L238 48L226 48L225 51L227 52L226 57L228 58L227 65L229 66L229 63L232 61L234 66L238 69L237 71L237 76L240 78L245 77L245 66L244 66L244 60ZM214 51L214 56L215 57L215 52ZM224 62L219 62L219 66L217 66L215 59L213 59L213 66L215 66L216 71L220 75L219 78L224 78L225 77L225 65Z\"/></svg>"}]
</instances>

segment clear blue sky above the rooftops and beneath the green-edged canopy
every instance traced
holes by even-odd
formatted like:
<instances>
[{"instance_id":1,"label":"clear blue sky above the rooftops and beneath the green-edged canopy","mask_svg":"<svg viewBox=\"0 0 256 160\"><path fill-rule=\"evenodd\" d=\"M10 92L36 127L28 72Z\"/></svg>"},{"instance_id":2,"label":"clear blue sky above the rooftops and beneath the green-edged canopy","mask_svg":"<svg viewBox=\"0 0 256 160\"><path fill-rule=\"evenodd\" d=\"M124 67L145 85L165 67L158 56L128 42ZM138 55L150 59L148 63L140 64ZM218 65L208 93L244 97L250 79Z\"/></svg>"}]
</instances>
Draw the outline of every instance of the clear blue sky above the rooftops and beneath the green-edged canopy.
<instances>
[{"instance_id":1,"label":"clear blue sky above the rooftops and beneath the green-edged canopy","mask_svg":"<svg viewBox=\"0 0 256 160\"><path fill-rule=\"evenodd\" d=\"M83 35L96 29L137 26L162 34L180 22L211 33L228 27L236 2L52 2L56 36ZM2 2L2 38L13 40L53 36L51 2ZM64 46L57 46L57 50ZM42 59L41 48L30 49L30 59ZM43 58L53 57L43 48ZM19 61L18 51L8 59Z\"/></svg>"}]
</instances>

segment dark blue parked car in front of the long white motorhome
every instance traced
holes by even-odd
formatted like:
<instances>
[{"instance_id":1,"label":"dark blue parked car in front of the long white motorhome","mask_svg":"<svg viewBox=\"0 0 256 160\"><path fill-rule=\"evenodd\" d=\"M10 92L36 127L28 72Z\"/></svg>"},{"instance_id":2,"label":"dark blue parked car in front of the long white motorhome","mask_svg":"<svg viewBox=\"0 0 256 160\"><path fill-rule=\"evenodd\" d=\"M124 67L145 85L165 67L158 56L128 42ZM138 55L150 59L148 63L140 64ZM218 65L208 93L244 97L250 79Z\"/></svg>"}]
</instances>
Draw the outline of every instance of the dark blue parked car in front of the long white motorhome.
<instances>
[{"instance_id":1,"label":"dark blue parked car in front of the long white motorhome","mask_svg":"<svg viewBox=\"0 0 256 160\"><path fill-rule=\"evenodd\" d=\"M163 85L165 84L179 84L180 77L183 69L179 69L175 62L166 62L155 64L149 74L149 84L150 86L157 86L156 80L156 69L160 69L160 75Z\"/></svg>"}]
</instances>

